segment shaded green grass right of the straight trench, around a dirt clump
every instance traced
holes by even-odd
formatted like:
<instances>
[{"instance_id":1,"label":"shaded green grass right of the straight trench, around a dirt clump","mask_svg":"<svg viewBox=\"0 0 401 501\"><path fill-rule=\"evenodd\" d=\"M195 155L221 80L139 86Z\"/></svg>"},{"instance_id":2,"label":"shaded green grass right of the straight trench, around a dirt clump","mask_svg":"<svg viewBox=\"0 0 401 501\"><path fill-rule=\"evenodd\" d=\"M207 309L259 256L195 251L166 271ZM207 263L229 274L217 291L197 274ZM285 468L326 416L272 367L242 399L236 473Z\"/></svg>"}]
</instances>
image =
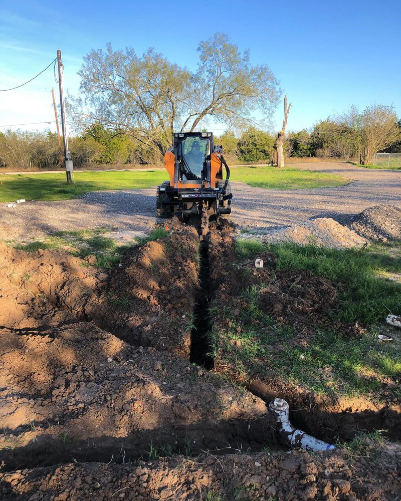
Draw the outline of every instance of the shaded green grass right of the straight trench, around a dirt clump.
<instances>
[{"instance_id":1,"label":"shaded green grass right of the straight trench, around a dirt clump","mask_svg":"<svg viewBox=\"0 0 401 501\"><path fill-rule=\"evenodd\" d=\"M212 331L214 355L244 378L275 374L319 393L359 394L379 401L387 391L401 397L401 340L383 343L377 339L375 327L388 311L401 309L401 284L378 275L383 270L401 271L394 250L394 246L383 245L356 251L240 240L236 248L239 259L274 252L278 269L307 270L340 282L332 320L362 321L366 332L360 338L342 336L334 328L323 332L314 329L311 317L306 345L294 344L295 328L278 324L262 310L260 291L265 285L260 284L242 292L246 306L239 316L231 314L231 305L212 309L216 318L230 319L229 327Z\"/></svg>"}]
</instances>

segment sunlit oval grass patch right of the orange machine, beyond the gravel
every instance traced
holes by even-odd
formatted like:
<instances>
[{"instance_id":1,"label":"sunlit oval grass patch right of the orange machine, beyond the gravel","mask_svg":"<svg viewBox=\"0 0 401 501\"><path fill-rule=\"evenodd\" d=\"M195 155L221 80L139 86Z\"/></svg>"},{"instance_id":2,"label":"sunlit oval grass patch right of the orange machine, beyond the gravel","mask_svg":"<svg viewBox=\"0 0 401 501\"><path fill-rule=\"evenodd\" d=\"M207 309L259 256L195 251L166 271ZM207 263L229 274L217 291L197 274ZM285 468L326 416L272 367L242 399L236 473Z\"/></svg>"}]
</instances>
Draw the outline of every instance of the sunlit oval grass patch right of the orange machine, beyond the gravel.
<instances>
[{"instance_id":1,"label":"sunlit oval grass patch right of the orange machine, beyond the gravel","mask_svg":"<svg viewBox=\"0 0 401 501\"><path fill-rule=\"evenodd\" d=\"M294 167L237 167L231 171L232 181L242 181L255 188L301 189L344 186L349 183L337 174Z\"/></svg>"}]
</instances>

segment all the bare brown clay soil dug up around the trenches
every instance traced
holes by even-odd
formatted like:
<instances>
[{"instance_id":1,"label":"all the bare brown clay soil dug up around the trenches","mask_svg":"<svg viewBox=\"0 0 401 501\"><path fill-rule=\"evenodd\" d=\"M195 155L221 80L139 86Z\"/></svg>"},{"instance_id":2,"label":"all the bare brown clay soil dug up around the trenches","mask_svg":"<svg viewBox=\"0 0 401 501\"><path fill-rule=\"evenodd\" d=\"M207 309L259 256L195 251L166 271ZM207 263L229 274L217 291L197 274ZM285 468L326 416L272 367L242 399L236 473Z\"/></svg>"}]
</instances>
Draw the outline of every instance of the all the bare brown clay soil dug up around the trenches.
<instances>
[{"instance_id":1,"label":"all the bare brown clay soil dug up around the trenches","mask_svg":"<svg viewBox=\"0 0 401 501\"><path fill-rule=\"evenodd\" d=\"M234 266L226 221L204 241L169 226L108 272L90 256L0 247L0 498L398 499L398 445L290 451L266 403L284 396L296 424L326 439L340 435L342 413L352 435L363 416L368 431L390 418L399 427L398 409L320 401L272 373L240 376L222 353L208 358L208 331L226 322L210 307L240 311L251 267ZM267 283L274 256L264 259L249 283ZM300 311L297 280L283 273L262 297L302 327L302 343L305 315L324 323L336 287L313 278Z\"/></svg>"}]
</instances>

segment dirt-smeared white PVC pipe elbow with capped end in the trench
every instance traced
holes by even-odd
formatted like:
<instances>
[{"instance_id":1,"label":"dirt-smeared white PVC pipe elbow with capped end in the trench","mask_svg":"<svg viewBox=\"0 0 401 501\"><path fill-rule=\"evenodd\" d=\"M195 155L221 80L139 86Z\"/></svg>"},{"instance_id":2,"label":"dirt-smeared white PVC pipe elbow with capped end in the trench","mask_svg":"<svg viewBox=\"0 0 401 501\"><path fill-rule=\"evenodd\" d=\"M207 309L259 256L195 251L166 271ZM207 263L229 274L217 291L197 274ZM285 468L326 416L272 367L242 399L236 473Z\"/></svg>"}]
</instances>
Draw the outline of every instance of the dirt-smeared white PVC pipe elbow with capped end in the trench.
<instances>
[{"instance_id":1,"label":"dirt-smeared white PVC pipe elbow with capped end in the trench","mask_svg":"<svg viewBox=\"0 0 401 501\"><path fill-rule=\"evenodd\" d=\"M289 419L288 403L283 398L275 398L274 401L270 402L269 409L276 416L277 431L292 447L301 447L306 450L335 450L335 445L330 445L302 430L294 428Z\"/></svg>"}]
</instances>

